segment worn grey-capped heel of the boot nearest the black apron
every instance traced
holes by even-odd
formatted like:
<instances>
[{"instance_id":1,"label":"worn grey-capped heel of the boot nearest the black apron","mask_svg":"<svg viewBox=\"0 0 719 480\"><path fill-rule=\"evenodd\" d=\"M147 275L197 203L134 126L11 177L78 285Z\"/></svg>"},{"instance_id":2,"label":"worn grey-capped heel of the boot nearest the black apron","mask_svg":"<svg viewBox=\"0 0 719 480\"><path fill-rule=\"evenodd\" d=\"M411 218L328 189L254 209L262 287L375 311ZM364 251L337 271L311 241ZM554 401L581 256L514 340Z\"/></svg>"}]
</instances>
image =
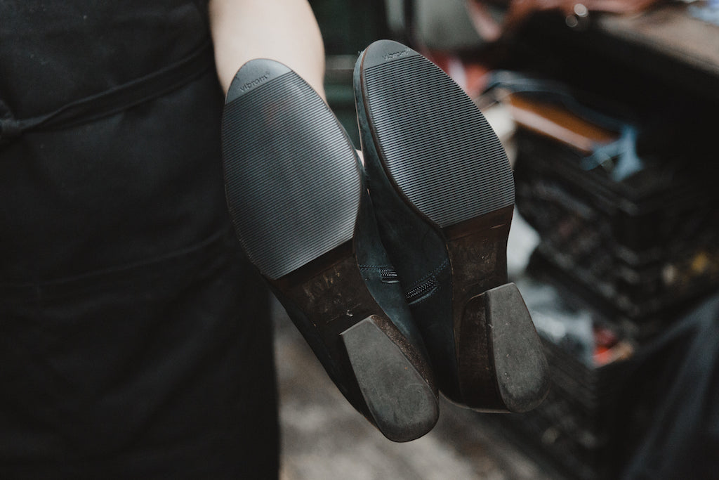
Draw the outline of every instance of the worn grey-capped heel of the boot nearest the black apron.
<instances>
[{"instance_id":1,"label":"worn grey-capped heel of the boot nearest the black apron","mask_svg":"<svg viewBox=\"0 0 719 480\"><path fill-rule=\"evenodd\" d=\"M387 320L376 315L340 334L372 420L395 442L418 438L439 415L434 391L415 367L417 353Z\"/></svg>"}]
</instances>

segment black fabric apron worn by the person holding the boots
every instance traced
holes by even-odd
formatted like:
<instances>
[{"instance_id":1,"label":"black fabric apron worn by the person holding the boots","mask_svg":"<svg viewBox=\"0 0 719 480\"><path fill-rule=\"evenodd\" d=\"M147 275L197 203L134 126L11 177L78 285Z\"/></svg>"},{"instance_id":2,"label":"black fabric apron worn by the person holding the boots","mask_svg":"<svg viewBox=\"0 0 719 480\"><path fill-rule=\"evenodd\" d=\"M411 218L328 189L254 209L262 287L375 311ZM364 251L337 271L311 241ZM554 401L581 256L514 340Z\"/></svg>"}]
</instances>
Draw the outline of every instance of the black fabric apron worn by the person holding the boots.
<instances>
[{"instance_id":1,"label":"black fabric apron worn by the person holding the boots","mask_svg":"<svg viewBox=\"0 0 719 480\"><path fill-rule=\"evenodd\" d=\"M206 5L0 0L0 478L272 478Z\"/></svg>"}]
</instances>

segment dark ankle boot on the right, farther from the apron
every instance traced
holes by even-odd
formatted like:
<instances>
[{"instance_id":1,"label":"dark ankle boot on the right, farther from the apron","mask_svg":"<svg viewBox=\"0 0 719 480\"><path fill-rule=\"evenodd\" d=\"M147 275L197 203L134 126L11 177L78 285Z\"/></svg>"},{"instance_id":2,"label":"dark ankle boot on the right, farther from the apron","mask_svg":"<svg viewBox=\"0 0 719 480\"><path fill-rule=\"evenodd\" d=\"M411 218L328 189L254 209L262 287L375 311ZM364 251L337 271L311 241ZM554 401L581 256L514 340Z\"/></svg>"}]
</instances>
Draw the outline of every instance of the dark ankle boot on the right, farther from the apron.
<instances>
[{"instance_id":1,"label":"dark ankle boot on the right, farther from the apron","mask_svg":"<svg viewBox=\"0 0 719 480\"><path fill-rule=\"evenodd\" d=\"M546 358L507 283L508 159L480 111L411 48L373 43L354 94L380 235L429 350L459 404L525 412L546 396Z\"/></svg>"}]
</instances>

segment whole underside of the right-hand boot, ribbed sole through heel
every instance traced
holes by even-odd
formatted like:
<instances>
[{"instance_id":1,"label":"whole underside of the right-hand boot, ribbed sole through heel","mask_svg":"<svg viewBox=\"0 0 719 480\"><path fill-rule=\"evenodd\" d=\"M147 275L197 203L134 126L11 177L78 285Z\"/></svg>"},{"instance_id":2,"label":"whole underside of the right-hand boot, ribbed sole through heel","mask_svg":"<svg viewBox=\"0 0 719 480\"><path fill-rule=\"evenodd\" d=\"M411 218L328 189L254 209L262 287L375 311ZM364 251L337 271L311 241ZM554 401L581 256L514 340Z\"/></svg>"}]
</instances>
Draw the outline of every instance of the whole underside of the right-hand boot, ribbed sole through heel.
<instances>
[{"instance_id":1,"label":"whole underside of the right-hand boot, ribbed sole through heel","mask_svg":"<svg viewBox=\"0 0 719 480\"><path fill-rule=\"evenodd\" d=\"M547 364L521 294L507 283L514 182L502 145L464 91L414 50L375 42L359 72L364 127L385 176L446 246L459 383L459 399L450 398L490 411L536 407L549 387Z\"/></svg>"}]
</instances>

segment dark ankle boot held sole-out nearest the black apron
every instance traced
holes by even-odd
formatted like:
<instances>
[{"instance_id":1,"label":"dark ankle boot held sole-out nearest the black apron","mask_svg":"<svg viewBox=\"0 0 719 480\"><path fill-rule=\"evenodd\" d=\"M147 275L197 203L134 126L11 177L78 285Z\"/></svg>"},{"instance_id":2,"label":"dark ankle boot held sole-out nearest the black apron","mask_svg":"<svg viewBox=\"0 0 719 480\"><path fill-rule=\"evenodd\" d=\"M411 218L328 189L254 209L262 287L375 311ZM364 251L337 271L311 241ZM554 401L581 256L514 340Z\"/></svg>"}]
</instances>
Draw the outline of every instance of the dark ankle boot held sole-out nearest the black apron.
<instances>
[{"instance_id":1,"label":"dark ankle boot held sole-out nearest the black apron","mask_svg":"<svg viewBox=\"0 0 719 480\"><path fill-rule=\"evenodd\" d=\"M252 60L229 88L222 150L237 237L336 386L390 440L429 432L433 373L334 114L285 65Z\"/></svg>"}]
</instances>

